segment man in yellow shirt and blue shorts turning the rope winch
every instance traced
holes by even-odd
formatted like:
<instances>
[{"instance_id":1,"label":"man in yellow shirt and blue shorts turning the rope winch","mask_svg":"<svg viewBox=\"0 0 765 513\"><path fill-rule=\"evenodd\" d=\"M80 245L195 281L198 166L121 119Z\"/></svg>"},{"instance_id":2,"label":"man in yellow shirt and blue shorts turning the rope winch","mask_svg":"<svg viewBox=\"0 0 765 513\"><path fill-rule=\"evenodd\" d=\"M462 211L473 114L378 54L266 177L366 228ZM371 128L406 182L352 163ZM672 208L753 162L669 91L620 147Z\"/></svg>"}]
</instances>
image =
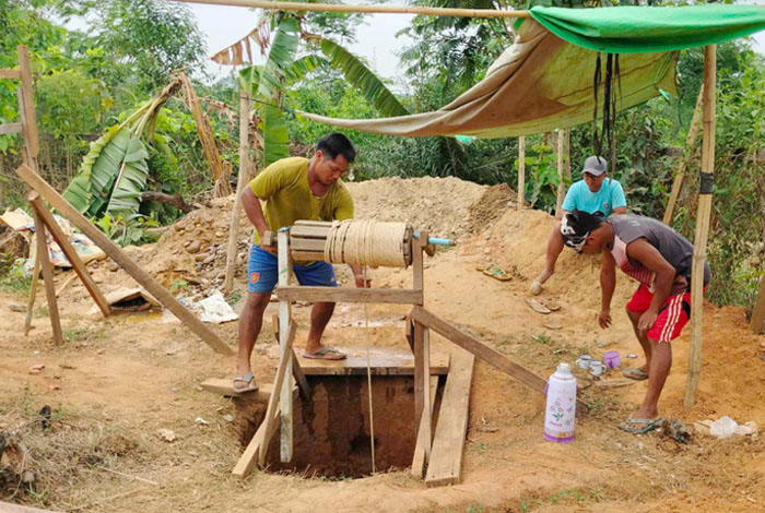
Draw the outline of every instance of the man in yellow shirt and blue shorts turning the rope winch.
<instances>
[{"instance_id":1,"label":"man in yellow shirt and blue shorts turning the rope winch","mask_svg":"<svg viewBox=\"0 0 765 513\"><path fill-rule=\"evenodd\" d=\"M255 240L247 265L247 302L239 319L239 351L234 390L257 390L250 368L252 346L263 323L263 312L278 282L278 260L273 248L260 246L270 230L276 232L298 219L343 220L353 218L353 199L340 177L356 157L353 143L342 133L322 136L310 159L283 158L263 169L242 192L242 204L252 226ZM260 202L264 201L264 208ZM263 212L264 210L264 212ZM356 287L368 286L361 267L351 265ZM337 287L334 270L327 262L293 265L301 285ZM339 360L345 355L321 345L321 334L332 312L333 302L317 302L310 312L310 332L306 358Z\"/></svg>"}]
</instances>

